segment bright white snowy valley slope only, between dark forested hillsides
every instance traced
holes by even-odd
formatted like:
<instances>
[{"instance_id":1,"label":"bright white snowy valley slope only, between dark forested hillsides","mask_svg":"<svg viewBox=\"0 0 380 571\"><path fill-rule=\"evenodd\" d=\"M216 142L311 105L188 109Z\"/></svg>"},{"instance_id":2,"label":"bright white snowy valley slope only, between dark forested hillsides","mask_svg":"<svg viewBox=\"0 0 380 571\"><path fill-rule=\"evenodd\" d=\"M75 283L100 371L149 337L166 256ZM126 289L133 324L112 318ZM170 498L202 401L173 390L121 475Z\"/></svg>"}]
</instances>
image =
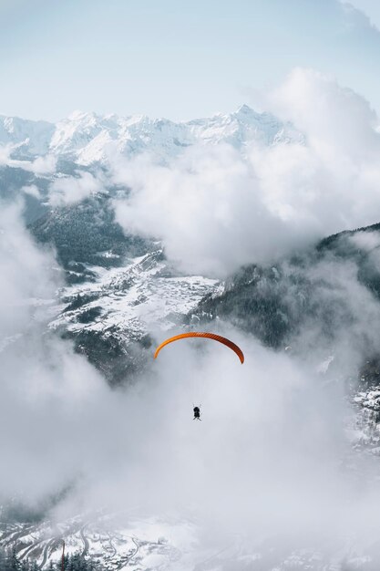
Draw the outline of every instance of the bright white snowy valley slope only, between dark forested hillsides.
<instances>
[{"instance_id":1,"label":"bright white snowy valley slope only, between dark forested hillsides","mask_svg":"<svg viewBox=\"0 0 380 571\"><path fill-rule=\"evenodd\" d=\"M216 280L201 275L176 274L160 249L139 256L126 267L91 267L91 271L97 275L95 283L73 285L61 292L64 304L50 327L136 340L157 327L167 330L180 323L217 285ZM94 317L84 318L90 312Z\"/></svg>"}]
</instances>

